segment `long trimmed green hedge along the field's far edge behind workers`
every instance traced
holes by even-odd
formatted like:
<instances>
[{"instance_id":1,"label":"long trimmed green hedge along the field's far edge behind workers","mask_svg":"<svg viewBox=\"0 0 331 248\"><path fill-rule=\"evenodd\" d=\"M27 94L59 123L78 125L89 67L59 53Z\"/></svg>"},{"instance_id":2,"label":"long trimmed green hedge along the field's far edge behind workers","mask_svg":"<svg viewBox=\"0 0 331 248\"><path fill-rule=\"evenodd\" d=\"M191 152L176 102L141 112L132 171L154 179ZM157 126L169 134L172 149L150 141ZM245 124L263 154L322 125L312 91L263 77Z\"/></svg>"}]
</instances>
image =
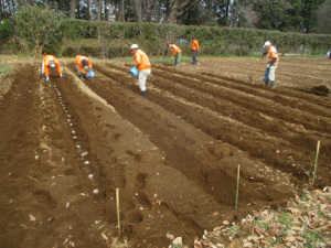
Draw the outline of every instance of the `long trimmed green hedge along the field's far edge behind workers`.
<instances>
[{"instance_id":1,"label":"long trimmed green hedge along the field's far edge behind workers","mask_svg":"<svg viewBox=\"0 0 331 248\"><path fill-rule=\"evenodd\" d=\"M1 30L0 30L1 31ZM64 19L62 32L66 44L61 55L131 56L132 43L149 55L163 55L168 43L178 44L184 55L191 54L191 37L200 42L200 54L254 55L259 54L265 41L276 45L279 53L321 55L331 50L331 35L282 33L243 28L170 25L156 23L96 22ZM96 39L93 46L82 46L82 39Z\"/></svg>"}]
</instances>

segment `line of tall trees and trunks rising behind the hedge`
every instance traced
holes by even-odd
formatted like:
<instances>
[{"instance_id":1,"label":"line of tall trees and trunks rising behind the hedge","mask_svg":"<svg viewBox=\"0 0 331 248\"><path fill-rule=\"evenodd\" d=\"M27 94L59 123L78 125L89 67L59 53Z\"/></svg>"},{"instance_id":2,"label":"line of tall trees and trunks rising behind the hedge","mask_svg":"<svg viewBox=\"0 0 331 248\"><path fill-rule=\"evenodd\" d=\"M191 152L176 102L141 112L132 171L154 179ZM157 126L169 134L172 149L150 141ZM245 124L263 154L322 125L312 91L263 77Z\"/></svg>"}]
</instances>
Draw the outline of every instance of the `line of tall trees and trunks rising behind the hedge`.
<instances>
[{"instance_id":1,"label":"line of tall trees and trunks rising behind the hedge","mask_svg":"<svg viewBox=\"0 0 331 248\"><path fill-rule=\"evenodd\" d=\"M87 21L331 33L331 0L0 0L0 21L26 7Z\"/></svg>"}]
</instances>

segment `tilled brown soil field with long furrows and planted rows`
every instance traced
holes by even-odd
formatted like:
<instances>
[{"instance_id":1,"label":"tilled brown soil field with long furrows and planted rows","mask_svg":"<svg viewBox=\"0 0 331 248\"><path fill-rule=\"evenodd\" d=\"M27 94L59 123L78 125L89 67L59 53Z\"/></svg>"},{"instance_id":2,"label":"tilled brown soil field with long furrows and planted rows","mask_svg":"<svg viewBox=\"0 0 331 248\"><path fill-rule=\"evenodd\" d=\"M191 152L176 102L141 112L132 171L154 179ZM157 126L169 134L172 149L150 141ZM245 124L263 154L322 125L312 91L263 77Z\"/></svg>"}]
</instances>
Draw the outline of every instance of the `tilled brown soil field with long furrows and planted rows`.
<instances>
[{"instance_id":1,"label":"tilled brown soil field with long furrows and planted rows","mask_svg":"<svg viewBox=\"0 0 331 248\"><path fill-rule=\"evenodd\" d=\"M300 192L319 140L314 186L330 185L331 98L311 91L331 87L330 61L281 58L276 90L259 58L153 64L148 99L134 62L92 61L94 79L64 58L65 78L15 61L1 79L0 247L193 247Z\"/></svg>"}]
</instances>

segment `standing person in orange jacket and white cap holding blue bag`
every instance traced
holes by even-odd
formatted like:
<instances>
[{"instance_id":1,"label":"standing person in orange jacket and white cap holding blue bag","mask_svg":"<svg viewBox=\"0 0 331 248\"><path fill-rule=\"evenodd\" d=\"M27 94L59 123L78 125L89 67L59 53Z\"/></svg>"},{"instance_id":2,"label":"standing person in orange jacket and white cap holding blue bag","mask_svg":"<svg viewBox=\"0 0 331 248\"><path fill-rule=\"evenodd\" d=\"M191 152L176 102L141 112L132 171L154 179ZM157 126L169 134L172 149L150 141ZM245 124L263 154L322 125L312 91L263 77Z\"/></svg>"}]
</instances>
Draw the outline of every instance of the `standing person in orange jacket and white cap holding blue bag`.
<instances>
[{"instance_id":1,"label":"standing person in orange jacket and white cap holding blue bag","mask_svg":"<svg viewBox=\"0 0 331 248\"><path fill-rule=\"evenodd\" d=\"M147 98L147 90L146 90L146 80L148 76L151 74L151 65L149 62L149 57L145 52L139 50L137 44L132 44L130 48L134 53L134 57L136 61L136 67L139 71L138 74L138 84L141 90L141 95Z\"/></svg>"}]
</instances>

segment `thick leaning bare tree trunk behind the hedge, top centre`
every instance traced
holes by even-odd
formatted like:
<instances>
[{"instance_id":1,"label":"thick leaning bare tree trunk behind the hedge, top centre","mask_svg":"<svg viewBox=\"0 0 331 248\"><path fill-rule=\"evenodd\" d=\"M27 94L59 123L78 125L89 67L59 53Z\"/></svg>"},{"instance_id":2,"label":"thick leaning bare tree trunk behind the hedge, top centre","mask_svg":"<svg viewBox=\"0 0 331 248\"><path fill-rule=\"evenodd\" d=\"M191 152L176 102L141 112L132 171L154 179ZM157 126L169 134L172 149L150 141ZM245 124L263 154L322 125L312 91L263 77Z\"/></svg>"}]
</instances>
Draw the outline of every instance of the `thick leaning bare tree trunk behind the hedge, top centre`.
<instances>
[{"instance_id":1,"label":"thick leaning bare tree trunk behind the hedge, top centre","mask_svg":"<svg viewBox=\"0 0 331 248\"><path fill-rule=\"evenodd\" d=\"M201 0L172 0L168 1L169 8L166 13L168 23L177 23L177 20L185 15L190 9L196 6Z\"/></svg>"}]
</instances>

